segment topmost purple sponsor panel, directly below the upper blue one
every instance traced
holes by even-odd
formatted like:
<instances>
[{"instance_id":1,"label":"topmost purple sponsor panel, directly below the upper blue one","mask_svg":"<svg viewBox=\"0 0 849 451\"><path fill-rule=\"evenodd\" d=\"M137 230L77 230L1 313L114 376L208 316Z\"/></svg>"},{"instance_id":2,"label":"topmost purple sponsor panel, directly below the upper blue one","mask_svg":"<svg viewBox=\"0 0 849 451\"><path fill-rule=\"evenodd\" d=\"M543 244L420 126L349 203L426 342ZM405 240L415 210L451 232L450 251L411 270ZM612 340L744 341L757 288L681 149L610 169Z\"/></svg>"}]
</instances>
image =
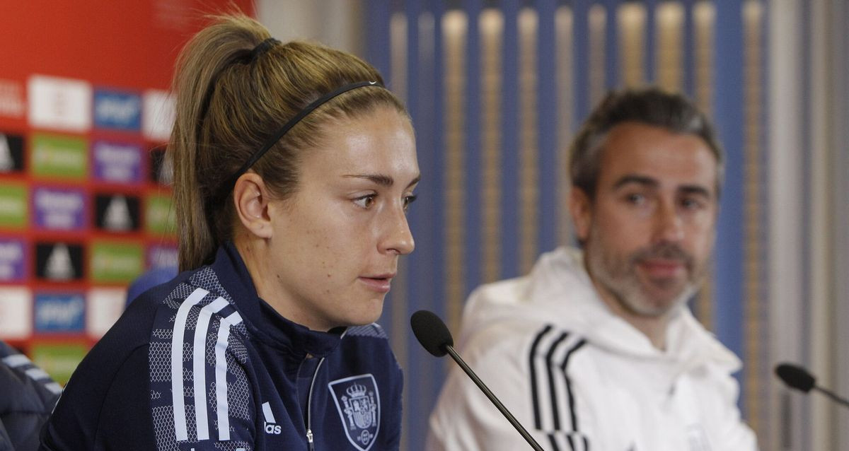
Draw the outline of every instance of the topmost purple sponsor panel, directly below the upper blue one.
<instances>
[{"instance_id":1,"label":"topmost purple sponsor panel, directly below the upper blue one","mask_svg":"<svg viewBox=\"0 0 849 451\"><path fill-rule=\"evenodd\" d=\"M138 144L97 141L92 148L94 178L116 183L143 181L142 147Z\"/></svg>"}]
</instances>

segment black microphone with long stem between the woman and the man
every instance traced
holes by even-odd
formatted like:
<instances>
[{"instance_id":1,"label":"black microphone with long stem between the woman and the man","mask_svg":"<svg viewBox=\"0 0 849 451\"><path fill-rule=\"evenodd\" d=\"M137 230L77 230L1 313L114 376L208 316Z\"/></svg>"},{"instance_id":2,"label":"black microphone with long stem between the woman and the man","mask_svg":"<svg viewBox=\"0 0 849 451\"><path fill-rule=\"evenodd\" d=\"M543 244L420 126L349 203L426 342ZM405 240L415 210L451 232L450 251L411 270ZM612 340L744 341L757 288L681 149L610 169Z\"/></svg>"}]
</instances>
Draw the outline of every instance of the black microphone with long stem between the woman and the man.
<instances>
[{"instance_id":1,"label":"black microphone with long stem between the woman and the man","mask_svg":"<svg viewBox=\"0 0 849 451\"><path fill-rule=\"evenodd\" d=\"M501 401L492 394L489 388L486 387L486 384L475 374L475 371L472 371L469 365L466 365L464 359L457 354L457 351L454 350L454 339L451 337L451 332L448 331L447 326L440 320L439 316L427 310L419 310L410 317L410 326L413 328L413 334L415 334L419 343L421 343L427 352L436 357L442 357L445 354L451 355L451 358L457 362L457 365L460 365L460 368L469 375L469 378L481 389L481 392L486 395L486 398L489 398L492 404L495 404L501 415L504 415L504 418L516 428L516 431L525 438L526 442L531 445L531 448L534 448L535 451L544 451L543 447L539 446L539 443L531 437L531 434L527 432L519 420L516 420L513 414L504 407L504 404L501 404Z\"/></svg>"}]
</instances>

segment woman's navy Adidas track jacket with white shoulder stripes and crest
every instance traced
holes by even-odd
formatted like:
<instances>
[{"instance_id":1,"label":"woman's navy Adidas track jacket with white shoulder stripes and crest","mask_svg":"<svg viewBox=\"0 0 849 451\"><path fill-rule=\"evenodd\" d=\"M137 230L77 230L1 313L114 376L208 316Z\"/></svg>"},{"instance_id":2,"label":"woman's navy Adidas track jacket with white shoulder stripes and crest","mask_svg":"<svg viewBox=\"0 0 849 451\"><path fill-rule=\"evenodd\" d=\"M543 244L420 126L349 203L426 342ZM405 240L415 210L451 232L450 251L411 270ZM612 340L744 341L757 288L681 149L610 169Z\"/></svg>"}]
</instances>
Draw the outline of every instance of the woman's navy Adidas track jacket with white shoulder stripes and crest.
<instances>
[{"instance_id":1,"label":"woman's navy Adidas track jacket with white shoulder stripes and crest","mask_svg":"<svg viewBox=\"0 0 849 451\"><path fill-rule=\"evenodd\" d=\"M402 372L376 324L310 331L232 244L144 292L71 376L42 450L392 450Z\"/></svg>"}]
</instances>

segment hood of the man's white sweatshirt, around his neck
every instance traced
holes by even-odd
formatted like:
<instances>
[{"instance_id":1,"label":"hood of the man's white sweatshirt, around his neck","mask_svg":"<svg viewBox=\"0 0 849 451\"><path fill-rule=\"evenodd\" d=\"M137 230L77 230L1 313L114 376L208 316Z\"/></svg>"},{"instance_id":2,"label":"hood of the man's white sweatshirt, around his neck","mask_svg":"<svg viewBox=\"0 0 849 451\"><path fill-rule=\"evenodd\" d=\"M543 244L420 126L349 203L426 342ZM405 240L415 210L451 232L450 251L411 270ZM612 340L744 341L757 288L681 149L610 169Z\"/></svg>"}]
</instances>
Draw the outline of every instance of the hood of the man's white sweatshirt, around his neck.
<instances>
[{"instance_id":1,"label":"hood of the man's white sweatshirt, around his neck","mask_svg":"<svg viewBox=\"0 0 849 451\"><path fill-rule=\"evenodd\" d=\"M472 294L464 315L464 337L499 322L532 321L578 333L611 353L655 361L680 374L707 362L729 373L741 364L685 304L670 315L666 349L615 315L599 298L576 248L543 253L528 276L485 285Z\"/></svg>"}]
</instances>

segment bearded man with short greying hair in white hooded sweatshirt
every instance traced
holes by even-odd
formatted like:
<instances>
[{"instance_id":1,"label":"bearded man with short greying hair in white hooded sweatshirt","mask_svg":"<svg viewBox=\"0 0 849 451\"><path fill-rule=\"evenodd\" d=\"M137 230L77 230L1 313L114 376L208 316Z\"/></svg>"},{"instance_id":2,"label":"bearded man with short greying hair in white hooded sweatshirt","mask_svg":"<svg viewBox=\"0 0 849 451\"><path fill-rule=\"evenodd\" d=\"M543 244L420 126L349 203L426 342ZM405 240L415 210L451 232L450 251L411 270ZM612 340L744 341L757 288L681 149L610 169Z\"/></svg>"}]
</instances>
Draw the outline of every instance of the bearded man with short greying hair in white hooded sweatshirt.
<instances>
[{"instance_id":1,"label":"bearded man with short greying hair in white hooded sweatshirt","mask_svg":"<svg viewBox=\"0 0 849 451\"><path fill-rule=\"evenodd\" d=\"M571 147L581 249L471 294L458 350L543 448L756 449L736 405L740 361L686 306L711 261L722 167L686 98L611 93ZM525 448L454 368L427 449Z\"/></svg>"}]
</instances>

